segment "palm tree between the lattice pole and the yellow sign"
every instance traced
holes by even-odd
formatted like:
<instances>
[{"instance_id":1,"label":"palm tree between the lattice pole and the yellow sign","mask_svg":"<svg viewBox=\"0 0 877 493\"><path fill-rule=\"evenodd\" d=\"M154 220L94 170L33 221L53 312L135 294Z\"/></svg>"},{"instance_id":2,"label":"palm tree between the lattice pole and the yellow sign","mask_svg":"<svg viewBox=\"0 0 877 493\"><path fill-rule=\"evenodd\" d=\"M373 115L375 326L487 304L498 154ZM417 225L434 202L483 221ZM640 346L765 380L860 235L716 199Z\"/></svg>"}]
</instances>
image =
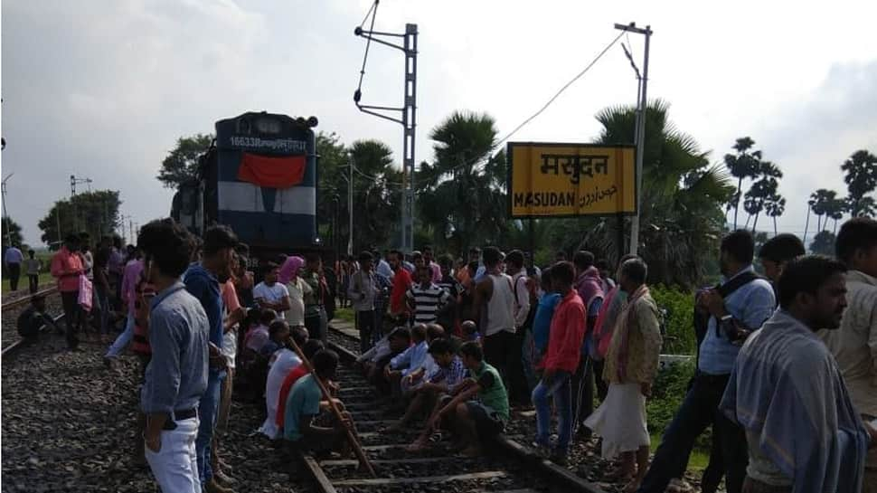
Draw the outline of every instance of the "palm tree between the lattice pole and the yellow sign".
<instances>
[{"instance_id":1,"label":"palm tree between the lattice pole and the yellow sign","mask_svg":"<svg viewBox=\"0 0 877 493\"><path fill-rule=\"evenodd\" d=\"M505 151L492 155L497 130L486 113L455 111L429 133L435 160L417 175L420 223L450 251L498 242L507 230Z\"/></svg>"}]
</instances>

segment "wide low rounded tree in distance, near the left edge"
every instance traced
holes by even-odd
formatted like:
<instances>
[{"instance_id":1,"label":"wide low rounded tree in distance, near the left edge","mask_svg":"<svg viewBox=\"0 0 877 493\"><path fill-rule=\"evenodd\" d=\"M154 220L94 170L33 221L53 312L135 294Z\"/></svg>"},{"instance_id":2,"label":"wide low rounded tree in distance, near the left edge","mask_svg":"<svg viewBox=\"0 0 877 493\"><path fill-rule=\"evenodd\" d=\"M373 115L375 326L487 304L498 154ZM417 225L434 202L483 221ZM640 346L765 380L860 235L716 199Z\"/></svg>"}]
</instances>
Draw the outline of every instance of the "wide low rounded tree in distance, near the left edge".
<instances>
[{"instance_id":1,"label":"wide low rounded tree in distance, near the left edge","mask_svg":"<svg viewBox=\"0 0 877 493\"><path fill-rule=\"evenodd\" d=\"M42 242L51 250L57 250L70 233L86 233L92 242L114 233L123 226L119 224L119 205L121 201L115 190L75 194L70 199L56 201L37 224L42 231Z\"/></svg>"}]
</instances>

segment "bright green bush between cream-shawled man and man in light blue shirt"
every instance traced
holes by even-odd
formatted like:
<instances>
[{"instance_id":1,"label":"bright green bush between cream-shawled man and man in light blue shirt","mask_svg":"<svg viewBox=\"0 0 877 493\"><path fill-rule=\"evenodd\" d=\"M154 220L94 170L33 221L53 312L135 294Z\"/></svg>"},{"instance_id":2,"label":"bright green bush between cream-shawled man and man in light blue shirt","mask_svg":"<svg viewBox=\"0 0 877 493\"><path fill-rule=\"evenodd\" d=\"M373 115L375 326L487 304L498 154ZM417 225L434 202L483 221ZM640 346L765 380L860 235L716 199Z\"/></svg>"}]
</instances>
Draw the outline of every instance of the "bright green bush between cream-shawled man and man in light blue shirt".
<instances>
[{"instance_id":1,"label":"bright green bush between cream-shawled man and man in light blue shirt","mask_svg":"<svg viewBox=\"0 0 877 493\"><path fill-rule=\"evenodd\" d=\"M697 350L693 326L694 295L660 284L650 286L649 291L658 308L665 311L664 347L661 352L693 356Z\"/></svg>"}]
</instances>

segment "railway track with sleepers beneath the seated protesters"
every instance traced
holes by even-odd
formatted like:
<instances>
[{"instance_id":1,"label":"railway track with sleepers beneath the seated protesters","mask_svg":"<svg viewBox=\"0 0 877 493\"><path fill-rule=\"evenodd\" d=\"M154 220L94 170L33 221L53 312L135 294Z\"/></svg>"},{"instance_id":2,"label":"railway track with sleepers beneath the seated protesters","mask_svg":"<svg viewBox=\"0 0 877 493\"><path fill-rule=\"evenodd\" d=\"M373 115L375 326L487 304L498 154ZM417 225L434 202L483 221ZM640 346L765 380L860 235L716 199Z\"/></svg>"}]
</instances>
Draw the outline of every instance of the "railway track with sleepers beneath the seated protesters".
<instances>
[{"instance_id":1,"label":"railway track with sleepers beneath the seated protesters","mask_svg":"<svg viewBox=\"0 0 877 493\"><path fill-rule=\"evenodd\" d=\"M524 447L522 442L529 437L515 435L514 426L507 431L510 434L500 435L486 444L485 450L489 453L484 458L457 457L448 450L445 441L422 453L405 450L420 429L412 426L406 431L386 432L399 416L386 404L376 403L372 388L354 370L357 355L351 346L358 342L335 329L330 335L329 346L341 356L343 363L338 372L342 383L339 397L354 417L363 449L377 477L372 478L358 469L357 460L317 460L305 456L306 469L321 493L603 491ZM517 415L513 416L513 421L515 419L524 418Z\"/></svg>"}]
</instances>

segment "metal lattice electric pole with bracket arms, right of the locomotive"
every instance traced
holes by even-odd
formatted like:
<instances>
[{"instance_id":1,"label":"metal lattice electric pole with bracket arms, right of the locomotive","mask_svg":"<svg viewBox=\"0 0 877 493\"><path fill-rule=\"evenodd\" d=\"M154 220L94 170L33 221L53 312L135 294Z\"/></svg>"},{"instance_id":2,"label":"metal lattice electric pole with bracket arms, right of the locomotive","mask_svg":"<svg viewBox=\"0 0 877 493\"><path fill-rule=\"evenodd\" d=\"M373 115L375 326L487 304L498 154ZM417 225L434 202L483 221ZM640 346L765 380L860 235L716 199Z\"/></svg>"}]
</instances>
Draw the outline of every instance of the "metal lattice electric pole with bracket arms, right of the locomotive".
<instances>
[{"instance_id":1,"label":"metal lattice electric pole with bracket arms, right of the locomotive","mask_svg":"<svg viewBox=\"0 0 877 493\"><path fill-rule=\"evenodd\" d=\"M372 6L373 14L377 14L377 2ZM366 16L366 18L368 18ZM364 23L363 23L364 24ZM354 29L354 35L362 36L369 42L381 43L385 46L400 50L405 55L405 79L404 97L402 106L372 106L360 104L363 96L363 75L365 74L365 61L368 57L368 44L365 46L365 58L363 58L363 70L360 71L359 88L354 92L356 108L378 118L388 119L402 126L402 211L401 211L401 251L414 249L414 136L417 128L417 24L405 24L405 33L381 33L373 30L374 17L372 16L372 29L363 30L363 26ZM402 44L394 44L380 39L382 37L402 38ZM399 112L401 118L391 117L384 112Z\"/></svg>"}]
</instances>

